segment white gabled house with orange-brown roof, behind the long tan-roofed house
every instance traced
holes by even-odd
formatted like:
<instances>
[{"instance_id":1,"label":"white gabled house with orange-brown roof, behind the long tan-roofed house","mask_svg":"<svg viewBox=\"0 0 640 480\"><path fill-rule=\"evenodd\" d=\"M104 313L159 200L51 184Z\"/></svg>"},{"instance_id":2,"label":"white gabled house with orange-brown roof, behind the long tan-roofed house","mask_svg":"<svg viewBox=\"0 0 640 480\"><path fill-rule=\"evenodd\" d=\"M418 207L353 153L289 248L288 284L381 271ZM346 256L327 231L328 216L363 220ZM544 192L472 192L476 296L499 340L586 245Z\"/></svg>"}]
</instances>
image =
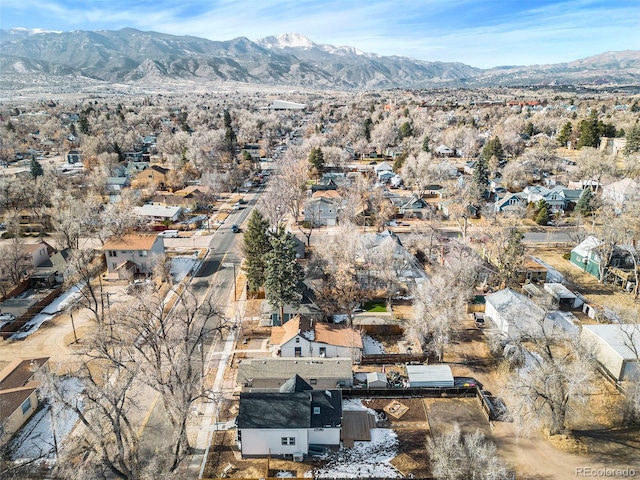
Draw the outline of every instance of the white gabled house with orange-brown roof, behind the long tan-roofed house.
<instances>
[{"instance_id":1,"label":"white gabled house with orange-brown roof, behind the long tan-roofed house","mask_svg":"<svg viewBox=\"0 0 640 480\"><path fill-rule=\"evenodd\" d=\"M348 357L357 363L363 350L362 337L354 329L317 322L303 315L296 315L280 327L272 327L270 343L283 358Z\"/></svg>"}]
</instances>

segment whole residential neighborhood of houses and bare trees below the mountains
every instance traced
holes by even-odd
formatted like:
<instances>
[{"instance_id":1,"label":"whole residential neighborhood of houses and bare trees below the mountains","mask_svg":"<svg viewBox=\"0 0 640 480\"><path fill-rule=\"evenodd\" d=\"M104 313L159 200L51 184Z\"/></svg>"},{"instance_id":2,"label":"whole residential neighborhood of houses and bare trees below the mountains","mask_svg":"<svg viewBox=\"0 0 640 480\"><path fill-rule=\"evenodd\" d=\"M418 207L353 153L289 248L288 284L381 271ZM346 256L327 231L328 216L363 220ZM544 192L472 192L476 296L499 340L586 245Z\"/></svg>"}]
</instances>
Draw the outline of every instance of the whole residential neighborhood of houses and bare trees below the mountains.
<instances>
[{"instance_id":1,"label":"whole residential neighborhood of houses and bare trees below the mountains","mask_svg":"<svg viewBox=\"0 0 640 480\"><path fill-rule=\"evenodd\" d=\"M3 100L0 472L640 469L638 101Z\"/></svg>"}]
</instances>

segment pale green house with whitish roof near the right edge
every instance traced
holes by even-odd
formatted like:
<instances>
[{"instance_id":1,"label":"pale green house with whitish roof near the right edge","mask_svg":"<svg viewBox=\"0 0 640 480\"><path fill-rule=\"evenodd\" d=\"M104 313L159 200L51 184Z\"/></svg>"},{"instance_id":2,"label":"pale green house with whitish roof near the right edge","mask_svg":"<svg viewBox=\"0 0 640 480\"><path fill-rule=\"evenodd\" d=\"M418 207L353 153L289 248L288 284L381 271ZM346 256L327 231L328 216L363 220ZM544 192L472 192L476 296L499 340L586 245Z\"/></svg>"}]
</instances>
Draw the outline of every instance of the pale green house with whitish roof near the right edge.
<instances>
[{"instance_id":1,"label":"pale green house with whitish roof near the right edge","mask_svg":"<svg viewBox=\"0 0 640 480\"><path fill-rule=\"evenodd\" d=\"M602 256L609 258L607 265L601 265ZM583 271L600 279L602 272L615 268L621 271L633 270L638 262L638 253L632 245L608 245L589 235L571 250L569 260Z\"/></svg>"}]
</instances>

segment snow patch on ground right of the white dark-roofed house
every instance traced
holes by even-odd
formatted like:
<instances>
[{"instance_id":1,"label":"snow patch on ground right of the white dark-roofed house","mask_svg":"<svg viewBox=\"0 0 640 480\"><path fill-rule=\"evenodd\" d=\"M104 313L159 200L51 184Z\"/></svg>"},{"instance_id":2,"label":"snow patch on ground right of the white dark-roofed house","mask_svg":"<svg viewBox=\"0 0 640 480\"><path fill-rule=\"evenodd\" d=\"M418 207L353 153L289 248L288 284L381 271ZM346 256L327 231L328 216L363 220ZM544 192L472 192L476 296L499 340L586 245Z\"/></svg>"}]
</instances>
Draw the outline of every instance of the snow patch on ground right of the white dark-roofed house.
<instances>
[{"instance_id":1,"label":"snow patch on ground right of the white dark-roofed house","mask_svg":"<svg viewBox=\"0 0 640 480\"><path fill-rule=\"evenodd\" d=\"M389 464L397 454L396 433L388 428L372 428L370 442L355 442L353 448L341 446L324 467L307 473L313 478L401 478Z\"/></svg>"}]
</instances>

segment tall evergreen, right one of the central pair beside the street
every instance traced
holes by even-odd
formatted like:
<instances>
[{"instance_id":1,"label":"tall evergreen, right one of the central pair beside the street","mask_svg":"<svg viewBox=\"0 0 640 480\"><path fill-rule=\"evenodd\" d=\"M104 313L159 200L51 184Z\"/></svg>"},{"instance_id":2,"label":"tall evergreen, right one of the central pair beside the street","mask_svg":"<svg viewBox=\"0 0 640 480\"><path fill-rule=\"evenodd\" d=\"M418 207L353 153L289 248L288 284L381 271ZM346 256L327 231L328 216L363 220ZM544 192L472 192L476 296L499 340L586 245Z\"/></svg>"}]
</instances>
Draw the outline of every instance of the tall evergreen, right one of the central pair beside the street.
<instances>
[{"instance_id":1,"label":"tall evergreen, right one of the central pair beside the street","mask_svg":"<svg viewBox=\"0 0 640 480\"><path fill-rule=\"evenodd\" d=\"M300 306L302 293L299 284L304 279L302 267L296 261L296 244L293 235L284 227L269 237L271 250L265 255L265 291L273 308L280 311L280 321L284 319L284 306Z\"/></svg>"}]
</instances>

